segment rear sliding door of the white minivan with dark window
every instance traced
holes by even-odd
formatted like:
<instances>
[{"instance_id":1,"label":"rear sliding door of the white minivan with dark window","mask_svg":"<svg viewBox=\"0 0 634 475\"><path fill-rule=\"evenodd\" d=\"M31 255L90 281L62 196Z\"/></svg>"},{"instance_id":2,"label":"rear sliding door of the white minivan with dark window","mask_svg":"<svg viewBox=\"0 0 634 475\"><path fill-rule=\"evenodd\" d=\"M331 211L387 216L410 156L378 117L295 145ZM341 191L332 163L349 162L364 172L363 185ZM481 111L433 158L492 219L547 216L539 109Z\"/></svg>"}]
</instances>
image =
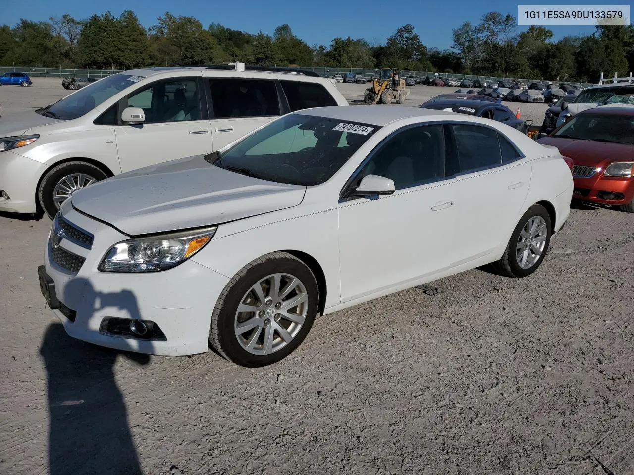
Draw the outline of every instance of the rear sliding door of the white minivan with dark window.
<instances>
[{"instance_id":1,"label":"rear sliding door of the white minivan with dark window","mask_svg":"<svg viewBox=\"0 0 634 475\"><path fill-rule=\"evenodd\" d=\"M204 80L209 85L214 150L281 115L275 79L212 77Z\"/></svg>"}]
</instances>

